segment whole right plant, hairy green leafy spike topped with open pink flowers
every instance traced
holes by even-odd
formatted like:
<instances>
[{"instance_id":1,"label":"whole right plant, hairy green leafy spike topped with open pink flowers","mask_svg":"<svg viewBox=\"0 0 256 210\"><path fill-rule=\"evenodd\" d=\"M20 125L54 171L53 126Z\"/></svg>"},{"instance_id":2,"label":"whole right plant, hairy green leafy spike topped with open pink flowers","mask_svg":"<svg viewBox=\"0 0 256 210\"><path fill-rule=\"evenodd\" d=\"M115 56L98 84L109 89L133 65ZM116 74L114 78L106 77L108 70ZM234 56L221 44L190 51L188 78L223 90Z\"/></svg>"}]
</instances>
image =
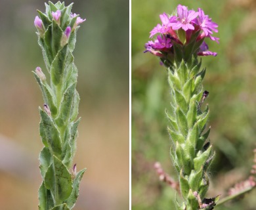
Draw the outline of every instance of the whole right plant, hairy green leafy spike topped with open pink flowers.
<instances>
[{"instance_id":1,"label":"whole right plant, hairy green leafy spike topped with open pink flowers","mask_svg":"<svg viewBox=\"0 0 256 210\"><path fill-rule=\"evenodd\" d=\"M179 175L183 199L177 201L177 209L211 210L219 196L205 198L215 152L207 140L209 108L202 105L209 93L202 86L205 68L201 69L198 56L217 56L209 51L205 39L219 43L219 38L213 37L218 25L202 9L193 11L182 5L171 15L160 14L160 19L161 24L150 31L150 38L156 35L156 39L146 43L144 52L158 56L167 68L171 102L166 114L171 159Z\"/></svg>"}]
</instances>

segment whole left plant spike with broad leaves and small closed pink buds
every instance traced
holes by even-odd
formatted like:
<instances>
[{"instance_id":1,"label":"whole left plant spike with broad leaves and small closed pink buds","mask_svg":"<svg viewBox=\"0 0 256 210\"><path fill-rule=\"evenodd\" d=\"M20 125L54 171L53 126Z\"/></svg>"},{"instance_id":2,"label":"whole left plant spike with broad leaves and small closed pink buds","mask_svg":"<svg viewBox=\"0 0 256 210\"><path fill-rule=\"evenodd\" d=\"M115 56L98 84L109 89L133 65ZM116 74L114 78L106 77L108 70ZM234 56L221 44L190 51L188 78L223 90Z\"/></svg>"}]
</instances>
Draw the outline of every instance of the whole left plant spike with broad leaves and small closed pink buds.
<instances>
[{"instance_id":1,"label":"whole left plant spike with broad leaves and small closed pink buds","mask_svg":"<svg viewBox=\"0 0 256 210\"><path fill-rule=\"evenodd\" d=\"M79 194L79 182L85 169L76 172L79 95L75 89L77 68L72 52L76 32L85 21L72 14L72 4L45 4L45 13L35 17L38 43L43 51L47 76L41 68L33 72L43 93L45 104L39 108L40 136L44 145L39 155L43 182L39 188L39 209L72 209Z\"/></svg>"}]
</instances>

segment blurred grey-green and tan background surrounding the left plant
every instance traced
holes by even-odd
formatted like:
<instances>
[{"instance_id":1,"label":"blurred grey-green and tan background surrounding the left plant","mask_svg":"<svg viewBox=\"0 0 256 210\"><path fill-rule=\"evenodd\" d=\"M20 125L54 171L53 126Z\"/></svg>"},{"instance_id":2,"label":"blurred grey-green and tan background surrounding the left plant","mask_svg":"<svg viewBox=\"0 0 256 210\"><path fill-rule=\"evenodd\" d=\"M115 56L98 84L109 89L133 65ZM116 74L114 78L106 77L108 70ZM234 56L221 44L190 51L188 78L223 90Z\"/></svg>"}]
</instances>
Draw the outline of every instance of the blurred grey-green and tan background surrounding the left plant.
<instances>
[{"instance_id":1,"label":"blurred grey-green and tan background surrounding the left plant","mask_svg":"<svg viewBox=\"0 0 256 210\"><path fill-rule=\"evenodd\" d=\"M56 3L57 1L53 1ZM87 168L74 209L129 209L129 1L74 2L87 18L74 56L82 117L74 163ZM32 70L45 70L33 21L45 1L0 0L1 209L37 209L41 91ZM47 1L48 3L48 1Z\"/></svg>"}]
</instances>

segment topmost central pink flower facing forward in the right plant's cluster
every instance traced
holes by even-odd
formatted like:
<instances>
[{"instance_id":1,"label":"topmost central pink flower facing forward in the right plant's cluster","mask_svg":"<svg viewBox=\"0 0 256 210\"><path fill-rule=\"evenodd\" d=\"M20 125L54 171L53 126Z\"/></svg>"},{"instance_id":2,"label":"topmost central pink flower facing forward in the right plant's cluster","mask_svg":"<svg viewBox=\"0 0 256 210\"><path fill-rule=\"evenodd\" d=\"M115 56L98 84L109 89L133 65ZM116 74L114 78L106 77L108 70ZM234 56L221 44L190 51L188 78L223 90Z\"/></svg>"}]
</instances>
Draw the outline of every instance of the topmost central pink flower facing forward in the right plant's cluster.
<instances>
[{"instance_id":1,"label":"topmost central pink flower facing forward in the right plant's cluster","mask_svg":"<svg viewBox=\"0 0 256 210\"><path fill-rule=\"evenodd\" d=\"M178 5L177 7L178 18L171 26L173 30L179 30L182 28L184 31L194 30L194 26L191 24L192 20L194 20L198 16L198 12L188 11L188 8L182 5Z\"/></svg>"}]
</instances>

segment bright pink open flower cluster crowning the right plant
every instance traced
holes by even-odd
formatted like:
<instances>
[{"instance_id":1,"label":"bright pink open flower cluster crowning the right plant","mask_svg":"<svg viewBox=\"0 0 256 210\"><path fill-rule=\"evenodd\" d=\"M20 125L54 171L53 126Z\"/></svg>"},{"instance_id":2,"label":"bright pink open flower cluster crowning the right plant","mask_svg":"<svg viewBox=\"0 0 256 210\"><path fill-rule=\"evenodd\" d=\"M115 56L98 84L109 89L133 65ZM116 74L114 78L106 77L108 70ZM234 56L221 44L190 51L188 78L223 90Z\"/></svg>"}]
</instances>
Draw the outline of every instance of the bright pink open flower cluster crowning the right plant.
<instances>
[{"instance_id":1,"label":"bright pink open flower cluster crowning the right plant","mask_svg":"<svg viewBox=\"0 0 256 210\"><path fill-rule=\"evenodd\" d=\"M167 57L174 53L173 45L183 47L193 45L191 54L200 56L217 56L217 53L208 51L208 46L203 41L205 37L219 43L219 38L213 37L213 32L218 32L218 25L205 15L202 9L190 10L182 5L177 7L177 16L169 16L166 13L160 14L161 24L158 24L150 31L150 38L154 35L156 40L148 41L145 48L160 58ZM160 34L159 34L160 33ZM191 49L191 46L190 46Z\"/></svg>"}]
</instances>

